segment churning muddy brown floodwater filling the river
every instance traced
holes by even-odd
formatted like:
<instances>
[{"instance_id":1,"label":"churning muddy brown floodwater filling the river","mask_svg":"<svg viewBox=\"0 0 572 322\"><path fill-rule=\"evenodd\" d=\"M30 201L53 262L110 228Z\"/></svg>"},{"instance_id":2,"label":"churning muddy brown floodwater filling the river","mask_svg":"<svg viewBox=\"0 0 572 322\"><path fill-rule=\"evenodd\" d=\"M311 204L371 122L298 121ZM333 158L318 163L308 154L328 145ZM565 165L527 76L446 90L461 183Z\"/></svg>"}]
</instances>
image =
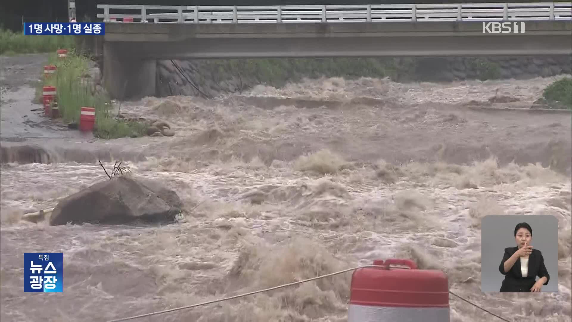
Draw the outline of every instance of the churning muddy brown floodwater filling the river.
<instances>
[{"instance_id":1,"label":"churning muddy brown floodwater filling the river","mask_svg":"<svg viewBox=\"0 0 572 322\"><path fill-rule=\"evenodd\" d=\"M18 87L3 95L22 93L25 77L2 68L2 87ZM150 97L121 109L160 117L176 135L108 141L56 125L36 127L43 138L25 138L15 123L5 130L15 121L7 113L29 99L9 96L0 127L0 319L106 321L407 257L443 270L453 292L506 319L569 321L570 114L466 105L491 107L494 95L515 98L496 108L531 104L551 81L327 78L215 100ZM104 180L98 158L106 167L124 159L193 210L161 226L21 221ZM558 293L480 292L478 221L488 214L558 218ZM64 253L63 293L22 292L22 253L39 251ZM140 320L346 321L350 277ZM450 301L451 321L494 320Z\"/></svg>"}]
</instances>

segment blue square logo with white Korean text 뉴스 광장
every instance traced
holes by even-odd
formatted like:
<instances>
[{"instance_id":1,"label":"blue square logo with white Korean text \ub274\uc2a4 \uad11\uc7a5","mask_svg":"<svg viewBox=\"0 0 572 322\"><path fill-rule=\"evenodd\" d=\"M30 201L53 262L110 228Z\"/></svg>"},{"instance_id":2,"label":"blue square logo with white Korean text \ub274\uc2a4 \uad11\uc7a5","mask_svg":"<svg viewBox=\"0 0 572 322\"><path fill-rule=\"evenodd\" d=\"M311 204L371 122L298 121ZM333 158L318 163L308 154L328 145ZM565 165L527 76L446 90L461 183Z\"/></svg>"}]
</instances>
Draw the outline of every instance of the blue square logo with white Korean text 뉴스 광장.
<instances>
[{"instance_id":1,"label":"blue square logo with white Korean text \ub274\uc2a4 \uad11\uc7a5","mask_svg":"<svg viewBox=\"0 0 572 322\"><path fill-rule=\"evenodd\" d=\"M24 253L24 292L63 292L63 253Z\"/></svg>"}]
</instances>

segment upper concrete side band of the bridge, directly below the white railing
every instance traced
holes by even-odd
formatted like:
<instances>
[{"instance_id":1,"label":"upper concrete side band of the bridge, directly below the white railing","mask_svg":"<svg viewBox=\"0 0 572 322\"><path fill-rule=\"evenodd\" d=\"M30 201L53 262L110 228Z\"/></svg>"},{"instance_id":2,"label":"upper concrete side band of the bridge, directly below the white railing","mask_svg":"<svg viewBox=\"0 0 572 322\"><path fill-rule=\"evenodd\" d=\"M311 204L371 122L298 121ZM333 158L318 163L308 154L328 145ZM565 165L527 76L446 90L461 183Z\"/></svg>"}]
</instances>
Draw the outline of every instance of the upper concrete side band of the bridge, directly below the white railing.
<instances>
[{"instance_id":1,"label":"upper concrete side band of the bridge, directly below the white railing","mask_svg":"<svg viewBox=\"0 0 572 322\"><path fill-rule=\"evenodd\" d=\"M529 21L526 33L516 34L526 42L527 36L564 36L572 34L572 21ZM268 38L387 38L387 37L506 37L508 34L483 33L482 22L355 22L355 23L272 23L256 24L165 24L112 23L106 25L105 41L112 42L181 42L201 38L268 39ZM436 40L435 40L436 41Z\"/></svg>"}]
</instances>

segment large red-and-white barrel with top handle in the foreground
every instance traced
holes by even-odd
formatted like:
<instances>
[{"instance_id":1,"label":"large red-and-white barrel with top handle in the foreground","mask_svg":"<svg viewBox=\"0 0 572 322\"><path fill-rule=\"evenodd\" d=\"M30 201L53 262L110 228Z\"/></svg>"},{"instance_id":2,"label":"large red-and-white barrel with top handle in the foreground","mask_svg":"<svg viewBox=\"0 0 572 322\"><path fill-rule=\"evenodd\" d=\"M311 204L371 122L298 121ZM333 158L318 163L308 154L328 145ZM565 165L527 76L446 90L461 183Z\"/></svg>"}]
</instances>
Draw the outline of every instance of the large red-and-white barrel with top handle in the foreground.
<instances>
[{"instance_id":1,"label":"large red-and-white barrel with top handle in the foreground","mask_svg":"<svg viewBox=\"0 0 572 322\"><path fill-rule=\"evenodd\" d=\"M374 261L382 268L353 272L348 322L448 322L447 276L417 269L411 260ZM409 269L392 269L391 265Z\"/></svg>"}]
</instances>

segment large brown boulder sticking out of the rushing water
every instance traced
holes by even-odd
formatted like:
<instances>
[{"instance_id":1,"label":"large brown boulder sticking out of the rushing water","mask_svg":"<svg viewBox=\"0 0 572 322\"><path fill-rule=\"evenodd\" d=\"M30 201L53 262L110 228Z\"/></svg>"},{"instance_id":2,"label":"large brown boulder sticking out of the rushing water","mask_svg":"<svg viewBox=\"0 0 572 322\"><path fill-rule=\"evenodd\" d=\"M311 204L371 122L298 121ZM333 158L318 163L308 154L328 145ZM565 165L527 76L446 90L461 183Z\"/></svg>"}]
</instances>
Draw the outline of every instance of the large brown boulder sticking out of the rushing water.
<instances>
[{"instance_id":1,"label":"large brown boulder sticking out of the rushing water","mask_svg":"<svg viewBox=\"0 0 572 322\"><path fill-rule=\"evenodd\" d=\"M122 175L59 201L50 225L173 222L182 210L183 203L173 190L152 180Z\"/></svg>"}]
</instances>

